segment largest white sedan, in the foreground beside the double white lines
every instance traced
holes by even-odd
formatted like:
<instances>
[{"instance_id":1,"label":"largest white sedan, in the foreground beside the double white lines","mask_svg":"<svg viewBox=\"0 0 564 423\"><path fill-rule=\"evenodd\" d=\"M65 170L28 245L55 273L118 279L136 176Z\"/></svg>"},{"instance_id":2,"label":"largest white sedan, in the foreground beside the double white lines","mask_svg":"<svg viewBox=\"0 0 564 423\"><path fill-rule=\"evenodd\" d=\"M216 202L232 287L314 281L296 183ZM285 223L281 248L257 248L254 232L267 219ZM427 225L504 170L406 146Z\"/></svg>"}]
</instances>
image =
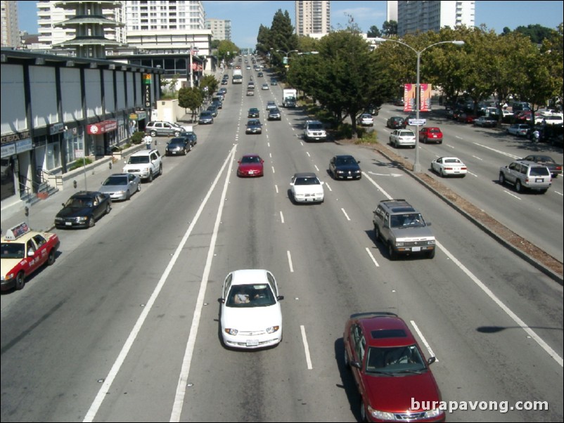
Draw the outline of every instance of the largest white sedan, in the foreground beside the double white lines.
<instances>
[{"instance_id":1,"label":"largest white sedan, in the foreground beside the double white lines","mask_svg":"<svg viewBox=\"0 0 564 423\"><path fill-rule=\"evenodd\" d=\"M229 273L219 299L224 346L257 349L280 344L281 299L271 272L244 269Z\"/></svg>"}]
</instances>

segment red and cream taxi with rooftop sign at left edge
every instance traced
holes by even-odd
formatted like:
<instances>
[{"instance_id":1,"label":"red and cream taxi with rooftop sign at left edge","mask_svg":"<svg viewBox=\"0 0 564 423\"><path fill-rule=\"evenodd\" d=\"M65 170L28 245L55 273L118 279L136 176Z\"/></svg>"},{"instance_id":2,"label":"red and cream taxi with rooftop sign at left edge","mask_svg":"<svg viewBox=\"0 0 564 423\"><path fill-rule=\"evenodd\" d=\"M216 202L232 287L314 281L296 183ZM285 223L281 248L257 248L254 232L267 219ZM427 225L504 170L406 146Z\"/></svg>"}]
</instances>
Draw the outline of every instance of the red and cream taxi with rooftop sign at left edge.
<instances>
[{"instance_id":1,"label":"red and cream taxi with rooftop sign at left edge","mask_svg":"<svg viewBox=\"0 0 564 423\"><path fill-rule=\"evenodd\" d=\"M59 245L56 233L36 232L25 222L8 229L0 247L1 290L22 289L25 278L44 264L55 263Z\"/></svg>"}]
</instances>

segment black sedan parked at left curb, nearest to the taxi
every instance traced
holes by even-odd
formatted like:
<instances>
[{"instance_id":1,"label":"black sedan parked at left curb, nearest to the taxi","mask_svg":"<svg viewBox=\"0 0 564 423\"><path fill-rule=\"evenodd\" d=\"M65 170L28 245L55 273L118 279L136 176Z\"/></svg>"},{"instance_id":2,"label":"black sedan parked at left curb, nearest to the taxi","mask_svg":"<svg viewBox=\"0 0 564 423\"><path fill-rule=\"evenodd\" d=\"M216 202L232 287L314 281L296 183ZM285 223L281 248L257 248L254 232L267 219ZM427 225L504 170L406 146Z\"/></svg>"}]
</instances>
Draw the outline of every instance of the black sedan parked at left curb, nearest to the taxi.
<instances>
[{"instance_id":1,"label":"black sedan parked at left curb, nearest to the taxi","mask_svg":"<svg viewBox=\"0 0 564 423\"><path fill-rule=\"evenodd\" d=\"M99 191L80 191L72 195L55 216L55 226L64 228L91 228L104 214L110 213L112 200Z\"/></svg>"}]
</instances>

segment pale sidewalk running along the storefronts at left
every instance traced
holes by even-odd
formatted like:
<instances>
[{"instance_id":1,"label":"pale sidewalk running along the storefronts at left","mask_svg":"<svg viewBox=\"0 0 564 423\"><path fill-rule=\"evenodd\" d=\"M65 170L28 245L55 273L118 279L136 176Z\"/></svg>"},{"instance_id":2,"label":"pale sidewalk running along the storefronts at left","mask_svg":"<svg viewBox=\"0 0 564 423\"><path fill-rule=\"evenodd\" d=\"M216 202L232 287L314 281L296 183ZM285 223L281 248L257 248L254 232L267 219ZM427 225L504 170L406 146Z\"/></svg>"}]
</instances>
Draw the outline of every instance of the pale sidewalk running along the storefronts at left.
<instances>
[{"instance_id":1,"label":"pale sidewalk running along the storefronts at left","mask_svg":"<svg viewBox=\"0 0 564 423\"><path fill-rule=\"evenodd\" d=\"M160 140L159 140L160 141ZM158 143L156 148L164 152L166 143ZM155 146L153 145L153 148ZM105 178L110 174L118 174L122 171L125 157L131 155L137 150L145 148L145 144L134 145L122 153L122 159L112 162L112 157L103 157L96 162L87 164L86 171L84 168L76 169L63 174L63 188L59 188L45 200L39 200L34 204L25 203L15 195L13 200L3 201L1 204L0 228L2 235L18 223L27 222L33 230L49 232L55 227L55 215L63 208L62 203L80 190L96 191L102 185ZM111 164L111 168L110 168ZM74 187L74 181L77 182L77 188ZM5 204L6 203L6 204ZM29 209L29 216L25 216L25 207Z\"/></svg>"}]
</instances>

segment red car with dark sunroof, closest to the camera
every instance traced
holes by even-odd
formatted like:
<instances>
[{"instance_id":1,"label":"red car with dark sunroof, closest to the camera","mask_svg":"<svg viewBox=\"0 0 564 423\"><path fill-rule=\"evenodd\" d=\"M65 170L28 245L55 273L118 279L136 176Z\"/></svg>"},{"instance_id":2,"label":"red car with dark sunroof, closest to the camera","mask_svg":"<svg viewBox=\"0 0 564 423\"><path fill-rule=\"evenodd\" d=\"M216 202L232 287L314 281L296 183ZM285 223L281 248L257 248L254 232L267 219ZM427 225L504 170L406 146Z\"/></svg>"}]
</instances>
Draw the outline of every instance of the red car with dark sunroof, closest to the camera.
<instances>
[{"instance_id":1,"label":"red car with dark sunroof, closest to the camera","mask_svg":"<svg viewBox=\"0 0 564 423\"><path fill-rule=\"evenodd\" d=\"M353 314L342 339L361 396L361 422L444 422L429 368L435 357L425 360L404 320L387 312ZM428 410L433 401L436 408Z\"/></svg>"}]
</instances>

